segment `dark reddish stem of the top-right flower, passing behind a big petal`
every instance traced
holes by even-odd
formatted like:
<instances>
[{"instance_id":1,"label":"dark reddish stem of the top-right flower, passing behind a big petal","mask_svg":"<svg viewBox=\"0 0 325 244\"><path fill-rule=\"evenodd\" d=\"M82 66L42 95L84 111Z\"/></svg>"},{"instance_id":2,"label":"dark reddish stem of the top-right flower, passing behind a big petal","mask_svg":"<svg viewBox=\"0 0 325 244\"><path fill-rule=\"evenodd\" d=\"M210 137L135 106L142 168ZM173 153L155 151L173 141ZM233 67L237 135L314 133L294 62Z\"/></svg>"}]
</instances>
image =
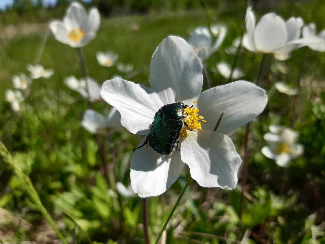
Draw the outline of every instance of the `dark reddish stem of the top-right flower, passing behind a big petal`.
<instances>
[{"instance_id":1,"label":"dark reddish stem of the top-right flower, passing behind a big petal","mask_svg":"<svg viewBox=\"0 0 325 244\"><path fill-rule=\"evenodd\" d=\"M265 63L265 57L266 54L264 53L259 65L259 70L258 70L258 75L256 78L256 85L260 83L261 76L262 76L262 70L263 66ZM243 158L243 171L242 171L242 184L241 184L241 194L240 194L240 209L239 209L239 223L238 223L238 228L237 228L237 239L239 238L240 235L240 229L241 229L241 217L242 217L242 209L244 205L244 192L245 192L245 186L246 186L246 181L247 181L247 176L248 176L248 138L249 138L249 133L250 133L250 122L246 124L246 131L245 131L245 141L244 141L244 158Z\"/></svg>"}]
</instances>

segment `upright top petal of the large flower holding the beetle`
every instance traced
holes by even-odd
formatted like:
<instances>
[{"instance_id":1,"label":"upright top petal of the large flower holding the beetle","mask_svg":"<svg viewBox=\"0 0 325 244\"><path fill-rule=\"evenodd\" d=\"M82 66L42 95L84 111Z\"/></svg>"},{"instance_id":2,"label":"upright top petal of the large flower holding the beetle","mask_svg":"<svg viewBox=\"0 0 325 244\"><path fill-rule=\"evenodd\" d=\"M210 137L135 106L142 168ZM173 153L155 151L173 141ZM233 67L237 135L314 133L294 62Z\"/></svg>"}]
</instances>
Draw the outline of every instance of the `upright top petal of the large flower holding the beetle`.
<instances>
[{"instance_id":1,"label":"upright top petal of the large flower holding the beetle","mask_svg":"<svg viewBox=\"0 0 325 244\"><path fill-rule=\"evenodd\" d=\"M196 101L203 83L202 64L182 38L168 36L153 53L150 87L164 104Z\"/></svg>"}]
</instances>

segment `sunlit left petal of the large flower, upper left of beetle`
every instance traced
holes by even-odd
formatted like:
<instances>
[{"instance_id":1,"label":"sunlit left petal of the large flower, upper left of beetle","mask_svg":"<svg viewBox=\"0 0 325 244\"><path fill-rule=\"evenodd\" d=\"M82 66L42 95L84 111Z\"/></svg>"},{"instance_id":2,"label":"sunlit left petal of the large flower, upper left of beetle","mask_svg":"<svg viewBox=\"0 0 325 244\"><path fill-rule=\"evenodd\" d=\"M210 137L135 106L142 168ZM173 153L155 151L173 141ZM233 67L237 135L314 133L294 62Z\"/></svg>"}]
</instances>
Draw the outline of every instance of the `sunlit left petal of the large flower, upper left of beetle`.
<instances>
[{"instance_id":1,"label":"sunlit left petal of the large flower, upper left of beetle","mask_svg":"<svg viewBox=\"0 0 325 244\"><path fill-rule=\"evenodd\" d=\"M131 81L105 81L102 98L121 113L121 124L131 133L146 135L155 113L164 104L150 88Z\"/></svg>"}]
</instances>

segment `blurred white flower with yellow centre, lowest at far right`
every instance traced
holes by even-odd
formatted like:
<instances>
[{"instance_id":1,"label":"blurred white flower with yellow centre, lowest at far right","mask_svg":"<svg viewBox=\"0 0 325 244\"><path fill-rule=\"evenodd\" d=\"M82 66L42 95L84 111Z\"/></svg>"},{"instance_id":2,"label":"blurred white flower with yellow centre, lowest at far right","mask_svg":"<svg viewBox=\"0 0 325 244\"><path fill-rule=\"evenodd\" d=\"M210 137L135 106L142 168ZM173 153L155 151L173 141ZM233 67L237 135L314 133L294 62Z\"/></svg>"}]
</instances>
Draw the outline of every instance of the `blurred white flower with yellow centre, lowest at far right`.
<instances>
[{"instance_id":1,"label":"blurred white flower with yellow centre, lowest at far right","mask_svg":"<svg viewBox=\"0 0 325 244\"><path fill-rule=\"evenodd\" d=\"M298 133L284 126L270 126L270 131L264 135L267 146L262 148L264 156L274 159L276 164L287 167L291 159L304 153L304 146L297 143Z\"/></svg>"}]
</instances>

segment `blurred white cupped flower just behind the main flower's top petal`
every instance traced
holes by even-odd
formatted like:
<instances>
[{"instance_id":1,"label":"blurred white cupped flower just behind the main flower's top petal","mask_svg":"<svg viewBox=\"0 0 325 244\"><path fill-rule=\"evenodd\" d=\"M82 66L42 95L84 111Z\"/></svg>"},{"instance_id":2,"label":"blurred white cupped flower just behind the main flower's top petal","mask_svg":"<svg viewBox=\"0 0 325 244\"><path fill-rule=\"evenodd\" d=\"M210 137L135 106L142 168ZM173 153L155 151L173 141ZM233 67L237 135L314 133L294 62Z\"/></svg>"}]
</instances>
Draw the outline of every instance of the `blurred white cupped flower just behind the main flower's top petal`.
<instances>
[{"instance_id":1,"label":"blurred white cupped flower just behind the main flower's top petal","mask_svg":"<svg viewBox=\"0 0 325 244\"><path fill-rule=\"evenodd\" d=\"M227 34L227 27L218 26L219 35L212 43L212 37L210 31L207 27L198 27L190 35L188 44L194 49L194 53L203 62L208 59L218 48L221 46L225 40Z\"/></svg>"}]
</instances>

